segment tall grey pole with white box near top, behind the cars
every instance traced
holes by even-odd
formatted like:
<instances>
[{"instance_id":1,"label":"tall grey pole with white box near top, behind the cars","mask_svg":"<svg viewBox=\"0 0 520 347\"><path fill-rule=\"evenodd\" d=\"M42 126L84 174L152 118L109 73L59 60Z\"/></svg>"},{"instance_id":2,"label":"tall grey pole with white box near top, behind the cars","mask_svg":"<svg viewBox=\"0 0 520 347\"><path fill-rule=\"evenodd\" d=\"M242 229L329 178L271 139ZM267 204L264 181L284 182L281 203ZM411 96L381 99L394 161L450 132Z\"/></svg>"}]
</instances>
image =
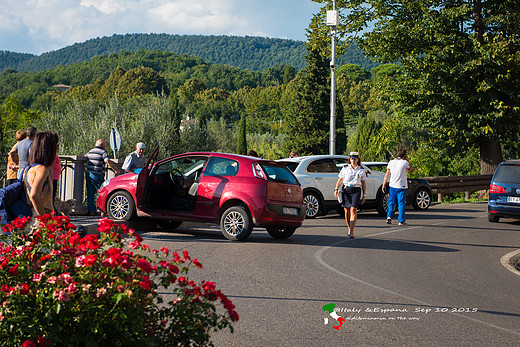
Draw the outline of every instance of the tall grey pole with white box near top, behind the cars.
<instances>
[{"instance_id":1,"label":"tall grey pole with white box near top, behind the cars","mask_svg":"<svg viewBox=\"0 0 520 347\"><path fill-rule=\"evenodd\" d=\"M330 26L331 60L330 60L330 140L329 154L336 154L336 26L338 11L336 0L332 1L332 11L327 11L327 25Z\"/></svg>"}]
</instances>

